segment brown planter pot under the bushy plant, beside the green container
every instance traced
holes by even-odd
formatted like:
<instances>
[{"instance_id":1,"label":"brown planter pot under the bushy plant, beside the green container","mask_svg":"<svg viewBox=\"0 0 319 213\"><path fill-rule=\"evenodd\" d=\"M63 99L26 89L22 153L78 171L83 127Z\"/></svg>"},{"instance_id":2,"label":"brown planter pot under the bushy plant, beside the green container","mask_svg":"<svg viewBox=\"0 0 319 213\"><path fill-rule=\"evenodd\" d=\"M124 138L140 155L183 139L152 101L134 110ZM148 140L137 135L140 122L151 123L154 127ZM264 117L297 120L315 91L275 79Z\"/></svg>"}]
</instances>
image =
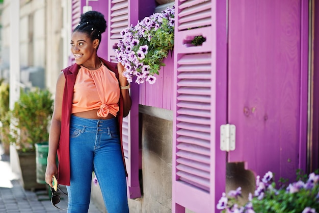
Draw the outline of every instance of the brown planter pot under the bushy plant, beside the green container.
<instances>
[{"instance_id":1,"label":"brown planter pot under the bushy plant, beside the green container","mask_svg":"<svg viewBox=\"0 0 319 213\"><path fill-rule=\"evenodd\" d=\"M31 191L44 190L45 184L37 183L36 153L18 151L18 157L23 180L23 188Z\"/></svg>"}]
</instances>

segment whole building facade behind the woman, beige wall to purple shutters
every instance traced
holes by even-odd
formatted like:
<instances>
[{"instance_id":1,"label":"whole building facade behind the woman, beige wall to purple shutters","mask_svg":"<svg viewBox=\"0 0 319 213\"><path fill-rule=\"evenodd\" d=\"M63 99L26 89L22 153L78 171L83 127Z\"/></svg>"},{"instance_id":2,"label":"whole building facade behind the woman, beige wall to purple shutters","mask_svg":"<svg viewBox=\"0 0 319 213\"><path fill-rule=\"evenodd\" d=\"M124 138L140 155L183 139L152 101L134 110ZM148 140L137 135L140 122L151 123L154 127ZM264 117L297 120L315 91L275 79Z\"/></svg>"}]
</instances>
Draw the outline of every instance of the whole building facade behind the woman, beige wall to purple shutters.
<instances>
[{"instance_id":1,"label":"whole building facade behind the woman, beige wall to purple shutters","mask_svg":"<svg viewBox=\"0 0 319 213\"><path fill-rule=\"evenodd\" d=\"M2 16L5 51L10 2L4 1ZM218 212L223 192L242 186L247 196L256 175L272 171L276 180L293 181L296 169L318 168L315 3L20 1L20 64L42 66L54 93L60 70L72 63L70 35L84 10L107 18L98 54L114 61L121 30L175 5L173 54L155 84L130 89L123 127L130 212ZM206 41L191 45L198 35ZM93 183L91 196L104 210Z\"/></svg>"}]
</instances>

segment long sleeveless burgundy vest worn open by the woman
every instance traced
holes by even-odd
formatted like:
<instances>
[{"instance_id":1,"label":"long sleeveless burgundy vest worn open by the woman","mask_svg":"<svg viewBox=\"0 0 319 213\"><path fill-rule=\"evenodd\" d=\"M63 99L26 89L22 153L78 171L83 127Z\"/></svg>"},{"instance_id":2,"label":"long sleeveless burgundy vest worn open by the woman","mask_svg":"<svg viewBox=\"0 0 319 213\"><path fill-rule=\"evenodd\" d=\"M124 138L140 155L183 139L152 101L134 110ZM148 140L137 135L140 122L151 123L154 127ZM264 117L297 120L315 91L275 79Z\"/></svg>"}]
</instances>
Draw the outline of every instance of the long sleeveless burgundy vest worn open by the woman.
<instances>
[{"instance_id":1,"label":"long sleeveless burgundy vest worn open by the woman","mask_svg":"<svg viewBox=\"0 0 319 213\"><path fill-rule=\"evenodd\" d=\"M119 74L117 70L117 64L109 61L105 61L100 58L101 61L115 73L116 78L119 79ZM70 131L70 116L73 100L73 87L75 84L76 75L78 73L79 65L76 63L64 68L62 71L65 76L65 86L63 92L63 103L62 103L62 117L61 117L61 133L58 146L58 158L59 158L59 167L58 167L58 182L62 185L70 185L70 147L69 147L69 131ZM122 158L126 172L125 158L123 152L123 143L122 143L122 123L123 123L123 97L120 93L119 101L120 110L117 113L117 119L119 124L119 133L121 141L121 150Z\"/></svg>"}]
</instances>

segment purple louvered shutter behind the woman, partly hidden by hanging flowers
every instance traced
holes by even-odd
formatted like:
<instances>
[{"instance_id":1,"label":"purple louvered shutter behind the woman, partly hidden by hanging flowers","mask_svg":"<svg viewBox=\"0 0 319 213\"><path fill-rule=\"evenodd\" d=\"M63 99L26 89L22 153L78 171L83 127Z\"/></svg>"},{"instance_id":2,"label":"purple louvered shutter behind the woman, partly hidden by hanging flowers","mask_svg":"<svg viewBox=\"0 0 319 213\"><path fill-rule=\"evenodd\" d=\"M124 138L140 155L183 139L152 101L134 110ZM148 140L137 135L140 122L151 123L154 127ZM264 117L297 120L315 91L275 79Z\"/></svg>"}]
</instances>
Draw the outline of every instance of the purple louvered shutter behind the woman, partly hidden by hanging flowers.
<instances>
[{"instance_id":1,"label":"purple louvered shutter behind the woman, partly hidden by hanging flowers","mask_svg":"<svg viewBox=\"0 0 319 213\"><path fill-rule=\"evenodd\" d=\"M120 32L131 24L136 24L138 19L138 4L129 0L113 0L109 2L108 37L109 60L114 60L113 46L121 39ZM135 11L135 12L132 12ZM128 172L127 186L129 198L141 197L139 183L139 104L138 85L131 84L130 94L132 106L130 113L123 119L123 148Z\"/></svg>"}]
</instances>

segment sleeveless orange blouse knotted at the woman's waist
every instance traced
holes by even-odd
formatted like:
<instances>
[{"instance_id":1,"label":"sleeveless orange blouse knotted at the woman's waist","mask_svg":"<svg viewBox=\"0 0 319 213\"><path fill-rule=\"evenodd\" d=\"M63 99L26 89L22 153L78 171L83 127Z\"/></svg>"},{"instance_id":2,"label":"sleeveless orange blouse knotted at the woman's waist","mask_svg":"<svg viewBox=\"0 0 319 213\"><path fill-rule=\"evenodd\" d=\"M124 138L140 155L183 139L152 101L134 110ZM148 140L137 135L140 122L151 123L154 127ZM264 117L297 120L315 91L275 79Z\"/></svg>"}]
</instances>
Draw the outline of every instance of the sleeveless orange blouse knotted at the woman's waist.
<instances>
[{"instance_id":1,"label":"sleeveless orange blouse knotted at the woman's waist","mask_svg":"<svg viewBox=\"0 0 319 213\"><path fill-rule=\"evenodd\" d=\"M104 64L96 70L81 66L74 85L71 113L99 109L97 116L116 116L119 111L120 87L115 73Z\"/></svg>"}]
</instances>

